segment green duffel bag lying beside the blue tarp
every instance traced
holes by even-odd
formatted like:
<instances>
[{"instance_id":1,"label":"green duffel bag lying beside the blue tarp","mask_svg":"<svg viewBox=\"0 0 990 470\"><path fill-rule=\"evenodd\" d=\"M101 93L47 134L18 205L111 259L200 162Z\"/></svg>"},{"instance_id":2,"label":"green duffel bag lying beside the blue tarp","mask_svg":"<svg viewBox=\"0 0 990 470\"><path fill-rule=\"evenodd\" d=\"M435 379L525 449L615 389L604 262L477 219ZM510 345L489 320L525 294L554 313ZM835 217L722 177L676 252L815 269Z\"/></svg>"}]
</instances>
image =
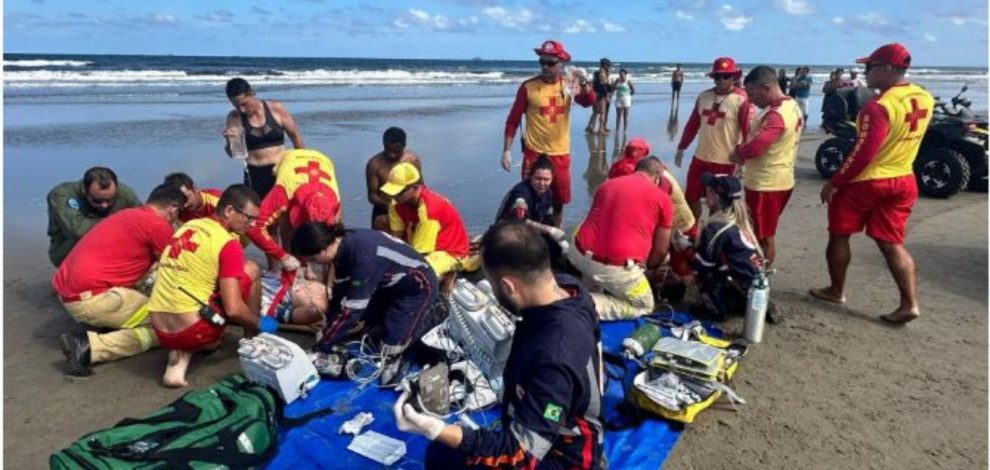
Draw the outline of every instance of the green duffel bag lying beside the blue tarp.
<instances>
[{"instance_id":1,"label":"green duffel bag lying beside the blue tarp","mask_svg":"<svg viewBox=\"0 0 990 470\"><path fill-rule=\"evenodd\" d=\"M186 393L144 418L125 419L53 454L53 469L251 468L277 448L282 403L242 375Z\"/></svg>"}]
</instances>

